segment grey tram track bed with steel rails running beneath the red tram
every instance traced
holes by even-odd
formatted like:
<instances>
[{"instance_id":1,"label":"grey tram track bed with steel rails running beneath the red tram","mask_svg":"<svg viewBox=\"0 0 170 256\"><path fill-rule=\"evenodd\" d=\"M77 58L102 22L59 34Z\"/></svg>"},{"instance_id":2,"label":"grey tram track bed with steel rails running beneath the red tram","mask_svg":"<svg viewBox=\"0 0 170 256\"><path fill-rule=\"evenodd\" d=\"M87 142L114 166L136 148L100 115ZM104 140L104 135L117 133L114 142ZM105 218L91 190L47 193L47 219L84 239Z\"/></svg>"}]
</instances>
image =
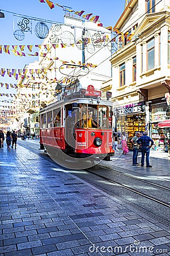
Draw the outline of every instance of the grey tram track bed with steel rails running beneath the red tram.
<instances>
[{"instance_id":1,"label":"grey tram track bed with steel rails running beneath the red tram","mask_svg":"<svg viewBox=\"0 0 170 256\"><path fill-rule=\"evenodd\" d=\"M23 144L20 146L28 148L35 154L55 163L44 152L37 152L35 144ZM143 180L141 177L134 177L129 174L111 170L110 168L96 165L94 168L71 171L70 172L80 179L103 190L108 195L117 197L122 204L130 204L135 209L148 214L148 216L170 226L169 222L169 188L151 181ZM126 184L125 183L126 180ZM127 184L127 181L130 184ZM133 184L133 186L131 185ZM135 188L136 187L136 188ZM138 189L137 189L138 188ZM148 193L146 193L147 191ZM162 198L163 197L163 198Z\"/></svg>"}]
</instances>

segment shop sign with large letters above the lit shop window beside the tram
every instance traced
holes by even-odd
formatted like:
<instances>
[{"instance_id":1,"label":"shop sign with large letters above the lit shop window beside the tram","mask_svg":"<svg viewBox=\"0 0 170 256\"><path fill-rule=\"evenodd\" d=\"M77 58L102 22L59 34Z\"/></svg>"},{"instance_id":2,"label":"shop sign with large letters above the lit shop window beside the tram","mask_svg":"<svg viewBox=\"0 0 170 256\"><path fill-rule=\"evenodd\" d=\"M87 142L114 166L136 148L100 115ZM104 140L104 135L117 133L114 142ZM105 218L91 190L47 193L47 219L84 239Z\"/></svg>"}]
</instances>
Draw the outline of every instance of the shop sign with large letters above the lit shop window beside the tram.
<instances>
[{"instance_id":1,"label":"shop sign with large letters above the lit shop window beside the tram","mask_svg":"<svg viewBox=\"0 0 170 256\"><path fill-rule=\"evenodd\" d=\"M138 103L131 103L117 108L119 115L133 114L133 113L144 113L145 104L144 101Z\"/></svg>"}]
</instances>

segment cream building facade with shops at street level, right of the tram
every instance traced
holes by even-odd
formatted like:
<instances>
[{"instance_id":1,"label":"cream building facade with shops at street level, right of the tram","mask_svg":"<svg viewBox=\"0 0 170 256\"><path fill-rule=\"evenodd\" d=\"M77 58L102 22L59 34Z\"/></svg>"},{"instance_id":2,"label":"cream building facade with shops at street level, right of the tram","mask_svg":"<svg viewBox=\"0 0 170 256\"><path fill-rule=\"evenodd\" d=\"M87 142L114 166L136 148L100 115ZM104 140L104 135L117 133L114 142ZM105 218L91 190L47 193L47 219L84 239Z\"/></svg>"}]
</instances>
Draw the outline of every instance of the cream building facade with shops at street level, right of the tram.
<instances>
[{"instance_id":1,"label":"cream building facade with shops at street level, right of the tram","mask_svg":"<svg viewBox=\"0 0 170 256\"><path fill-rule=\"evenodd\" d=\"M113 129L125 131L129 141L135 131L148 130L159 150L169 138L169 130L158 127L169 105L169 15L168 0L129 1L114 26L118 43L111 58Z\"/></svg>"}]
</instances>

